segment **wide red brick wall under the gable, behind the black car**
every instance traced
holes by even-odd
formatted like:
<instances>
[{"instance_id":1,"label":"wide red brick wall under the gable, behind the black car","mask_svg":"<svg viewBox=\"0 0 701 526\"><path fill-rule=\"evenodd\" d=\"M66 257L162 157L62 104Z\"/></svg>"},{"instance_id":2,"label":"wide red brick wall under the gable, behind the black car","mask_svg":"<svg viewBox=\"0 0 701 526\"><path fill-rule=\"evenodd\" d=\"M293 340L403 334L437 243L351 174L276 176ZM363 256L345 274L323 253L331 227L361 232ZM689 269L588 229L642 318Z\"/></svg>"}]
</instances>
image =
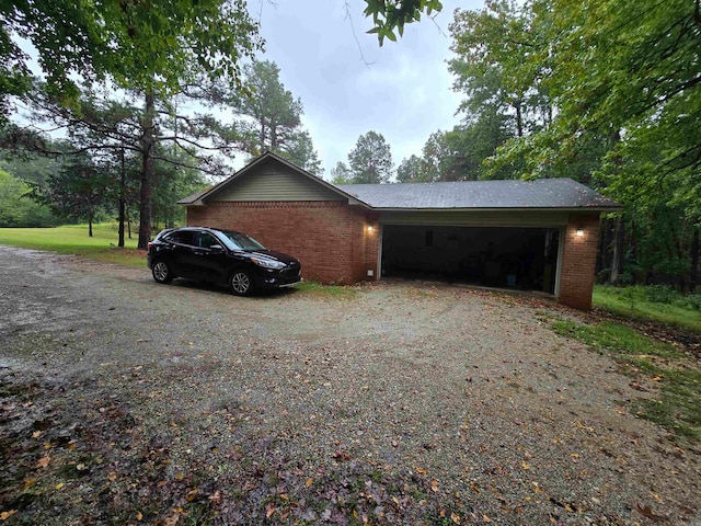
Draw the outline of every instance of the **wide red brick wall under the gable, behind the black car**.
<instances>
[{"instance_id":1,"label":"wide red brick wall under the gable, behind the black car","mask_svg":"<svg viewBox=\"0 0 701 526\"><path fill-rule=\"evenodd\" d=\"M377 220L344 202L210 203L187 207L187 225L245 232L297 258L304 279L350 284L377 278ZM375 277L367 277L368 270Z\"/></svg>"}]
</instances>

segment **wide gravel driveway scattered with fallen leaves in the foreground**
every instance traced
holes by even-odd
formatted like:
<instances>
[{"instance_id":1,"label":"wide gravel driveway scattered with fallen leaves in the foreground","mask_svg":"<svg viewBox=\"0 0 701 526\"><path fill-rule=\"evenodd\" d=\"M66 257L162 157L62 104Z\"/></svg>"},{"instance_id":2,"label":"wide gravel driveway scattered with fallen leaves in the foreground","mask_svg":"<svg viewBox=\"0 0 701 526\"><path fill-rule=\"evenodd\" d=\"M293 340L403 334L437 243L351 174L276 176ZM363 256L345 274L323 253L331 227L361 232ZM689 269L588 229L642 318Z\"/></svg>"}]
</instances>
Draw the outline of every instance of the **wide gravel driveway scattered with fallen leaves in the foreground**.
<instances>
[{"instance_id":1,"label":"wide gravel driveway scattered with fallen leaves in the foreground","mask_svg":"<svg viewBox=\"0 0 701 526\"><path fill-rule=\"evenodd\" d=\"M698 443L636 418L655 382L552 304L0 259L2 524L700 519Z\"/></svg>"}]
</instances>

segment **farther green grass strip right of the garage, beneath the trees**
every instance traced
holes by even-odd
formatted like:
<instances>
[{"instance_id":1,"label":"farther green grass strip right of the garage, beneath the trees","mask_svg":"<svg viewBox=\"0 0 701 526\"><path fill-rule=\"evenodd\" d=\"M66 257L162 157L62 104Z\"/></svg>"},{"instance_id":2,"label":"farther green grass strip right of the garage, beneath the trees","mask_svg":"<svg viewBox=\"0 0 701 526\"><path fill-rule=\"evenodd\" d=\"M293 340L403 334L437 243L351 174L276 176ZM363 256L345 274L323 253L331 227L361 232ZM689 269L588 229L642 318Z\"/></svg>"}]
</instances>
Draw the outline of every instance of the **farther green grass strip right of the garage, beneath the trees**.
<instances>
[{"instance_id":1,"label":"farther green grass strip right of the garage, beneath the trees","mask_svg":"<svg viewBox=\"0 0 701 526\"><path fill-rule=\"evenodd\" d=\"M660 294L662 293L662 294ZM593 304L597 309L639 320L670 324L701 332L701 310L692 300L699 294L685 299L665 287L594 287Z\"/></svg>"}]
</instances>

